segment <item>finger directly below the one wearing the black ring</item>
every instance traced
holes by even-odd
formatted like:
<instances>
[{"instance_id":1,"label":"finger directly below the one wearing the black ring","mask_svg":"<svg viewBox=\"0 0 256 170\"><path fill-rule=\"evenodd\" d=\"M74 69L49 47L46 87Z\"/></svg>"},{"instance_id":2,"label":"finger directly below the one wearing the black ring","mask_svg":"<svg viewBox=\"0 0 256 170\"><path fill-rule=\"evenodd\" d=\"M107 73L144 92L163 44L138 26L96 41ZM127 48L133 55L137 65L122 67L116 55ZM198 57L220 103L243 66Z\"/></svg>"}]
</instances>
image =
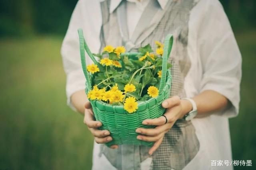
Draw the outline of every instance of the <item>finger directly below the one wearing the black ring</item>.
<instances>
[{"instance_id":1,"label":"finger directly below the one wearing the black ring","mask_svg":"<svg viewBox=\"0 0 256 170\"><path fill-rule=\"evenodd\" d=\"M163 133L166 129L168 129L168 124L166 125L162 125L162 126L157 126L154 129L145 129L145 128L138 128L136 129L137 133L143 134L143 135L147 135L147 136L157 136L160 133Z\"/></svg>"}]
</instances>

